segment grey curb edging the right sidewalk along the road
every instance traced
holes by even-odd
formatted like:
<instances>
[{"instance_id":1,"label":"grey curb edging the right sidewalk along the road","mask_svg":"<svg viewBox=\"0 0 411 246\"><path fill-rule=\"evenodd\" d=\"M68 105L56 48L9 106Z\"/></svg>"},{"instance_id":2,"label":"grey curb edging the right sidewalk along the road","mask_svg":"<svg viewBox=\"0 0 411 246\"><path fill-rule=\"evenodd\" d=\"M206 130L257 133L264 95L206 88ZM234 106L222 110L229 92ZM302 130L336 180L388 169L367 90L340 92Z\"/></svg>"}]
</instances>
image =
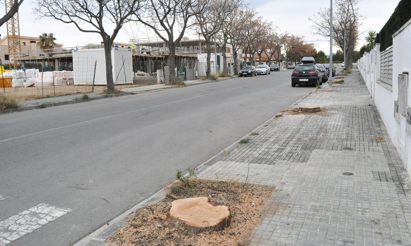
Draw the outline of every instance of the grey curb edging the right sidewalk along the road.
<instances>
[{"instance_id":1,"label":"grey curb edging the right sidewalk along the road","mask_svg":"<svg viewBox=\"0 0 411 246\"><path fill-rule=\"evenodd\" d=\"M209 82L207 82L209 83ZM198 85L198 84L197 84ZM304 95L303 97L301 97L299 100L297 100L296 102L292 103L291 105L289 105L288 107L286 107L285 109L290 109L293 108L295 105L298 105L299 102L301 102L302 100L304 100L307 96L309 96L310 94L312 94L316 89L313 89L311 92L307 93L306 95ZM280 114L280 113L279 113ZM279 115L277 114L277 115ZM271 117L270 119L268 119L267 121L265 121L264 123L262 123L261 125L257 126L256 128L254 128L252 131L250 131L249 133L247 133L246 135L244 135L243 137L241 137L238 141L235 141L234 143L232 143L231 145L229 145L228 147L224 148L222 151L218 152L217 154L215 154L213 157L209 158L208 160L206 160L205 162L203 162L202 164L200 164L199 166L197 166L197 172L200 173L203 170L205 170L206 168L208 168L209 166L212 166L214 163L216 163L217 161L221 160L224 157L224 152L231 152L234 149L238 148L239 145L241 145L239 143L239 141L245 137L249 137L251 136L252 132L259 132L261 131L265 125L271 124L274 121L278 120L279 118L277 118L276 116ZM175 180L176 181L176 180ZM173 182L175 182L173 181ZM166 185L167 186L167 185ZM165 187L166 187L165 186ZM91 234L87 235L86 237L84 237L83 239L80 239L77 243L75 243L73 246L96 246L96 245L102 245L102 246L112 246L111 244L107 244L104 241L106 241L114 232L116 232L121 226L123 226L125 224L125 218L131 214L132 212L136 211L139 208L145 207L149 204L154 204L157 203L158 201L162 200L164 197L166 197L166 190L163 188L160 191L152 194L151 196L149 196L148 198L146 198L145 200L139 202L137 205L133 206L131 209L123 212L122 214L120 214L119 216L117 216L116 218L112 219L110 222L108 222L107 224L105 224L104 226L102 226L101 228L98 228L97 230L93 231Z\"/></svg>"}]
</instances>

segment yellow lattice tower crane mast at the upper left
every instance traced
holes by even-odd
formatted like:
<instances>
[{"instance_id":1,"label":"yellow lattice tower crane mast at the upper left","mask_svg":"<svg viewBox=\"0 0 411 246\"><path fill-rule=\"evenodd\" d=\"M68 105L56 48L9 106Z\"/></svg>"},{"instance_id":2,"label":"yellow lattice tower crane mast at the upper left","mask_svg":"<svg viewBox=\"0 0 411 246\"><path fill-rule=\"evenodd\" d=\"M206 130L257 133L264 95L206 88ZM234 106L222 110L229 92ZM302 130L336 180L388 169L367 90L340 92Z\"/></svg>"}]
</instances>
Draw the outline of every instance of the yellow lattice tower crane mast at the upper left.
<instances>
[{"instance_id":1,"label":"yellow lattice tower crane mast at the upper left","mask_svg":"<svg viewBox=\"0 0 411 246\"><path fill-rule=\"evenodd\" d=\"M6 13L10 11L13 3L13 0L5 0ZM20 67L20 61L17 61L16 58L21 53L19 12L16 12L12 18L7 20L7 41L10 66L17 69Z\"/></svg>"}]
</instances>

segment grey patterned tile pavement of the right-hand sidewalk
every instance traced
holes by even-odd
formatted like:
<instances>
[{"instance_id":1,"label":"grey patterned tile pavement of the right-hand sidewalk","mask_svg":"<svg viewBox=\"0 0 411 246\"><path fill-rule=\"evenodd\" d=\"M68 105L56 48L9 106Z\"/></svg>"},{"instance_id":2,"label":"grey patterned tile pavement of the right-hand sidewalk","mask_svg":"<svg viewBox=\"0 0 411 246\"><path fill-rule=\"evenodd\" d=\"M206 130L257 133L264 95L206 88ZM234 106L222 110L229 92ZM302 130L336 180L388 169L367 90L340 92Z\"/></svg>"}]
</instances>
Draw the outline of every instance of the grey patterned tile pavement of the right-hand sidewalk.
<instances>
[{"instance_id":1,"label":"grey patterned tile pavement of the right-hand sidewalk","mask_svg":"<svg viewBox=\"0 0 411 246\"><path fill-rule=\"evenodd\" d=\"M303 105L325 111L284 112L198 177L276 187L253 246L411 245L409 179L358 70Z\"/></svg>"}]
</instances>

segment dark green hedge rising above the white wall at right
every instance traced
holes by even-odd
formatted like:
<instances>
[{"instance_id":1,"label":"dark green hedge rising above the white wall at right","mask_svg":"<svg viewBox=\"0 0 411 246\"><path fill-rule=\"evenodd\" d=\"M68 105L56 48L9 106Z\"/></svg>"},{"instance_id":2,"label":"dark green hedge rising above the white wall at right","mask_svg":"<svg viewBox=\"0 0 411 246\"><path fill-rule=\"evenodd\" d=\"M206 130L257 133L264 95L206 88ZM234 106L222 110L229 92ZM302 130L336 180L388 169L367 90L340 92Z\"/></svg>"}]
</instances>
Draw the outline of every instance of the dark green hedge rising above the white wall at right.
<instances>
[{"instance_id":1,"label":"dark green hedge rising above the white wall at right","mask_svg":"<svg viewBox=\"0 0 411 246\"><path fill-rule=\"evenodd\" d=\"M411 0L401 0L375 38L375 43L380 43L380 51L392 46L392 35L411 19Z\"/></svg>"}]
</instances>

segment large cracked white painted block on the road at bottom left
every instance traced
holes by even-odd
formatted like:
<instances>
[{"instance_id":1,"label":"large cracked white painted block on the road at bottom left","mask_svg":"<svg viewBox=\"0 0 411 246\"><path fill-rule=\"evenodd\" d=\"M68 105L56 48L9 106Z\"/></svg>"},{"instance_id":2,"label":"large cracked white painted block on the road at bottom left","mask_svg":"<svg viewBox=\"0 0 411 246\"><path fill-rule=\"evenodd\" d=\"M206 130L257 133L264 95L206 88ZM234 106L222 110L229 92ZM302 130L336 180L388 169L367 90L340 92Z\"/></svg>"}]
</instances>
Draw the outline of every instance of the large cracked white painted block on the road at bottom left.
<instances>
[{"instance_id":1,"label":"large cracked white painted block on the road at bottom left","mask_svg":"<svg viewBox=\"0 0 411 246\"><path fill-rule=\"evenodd\" d=\"M46 203L40 203L33 208L0 221L0 246L10 244L25 234L71 211L71 209L57 208Z\"/></svg>"}]
</instances>

